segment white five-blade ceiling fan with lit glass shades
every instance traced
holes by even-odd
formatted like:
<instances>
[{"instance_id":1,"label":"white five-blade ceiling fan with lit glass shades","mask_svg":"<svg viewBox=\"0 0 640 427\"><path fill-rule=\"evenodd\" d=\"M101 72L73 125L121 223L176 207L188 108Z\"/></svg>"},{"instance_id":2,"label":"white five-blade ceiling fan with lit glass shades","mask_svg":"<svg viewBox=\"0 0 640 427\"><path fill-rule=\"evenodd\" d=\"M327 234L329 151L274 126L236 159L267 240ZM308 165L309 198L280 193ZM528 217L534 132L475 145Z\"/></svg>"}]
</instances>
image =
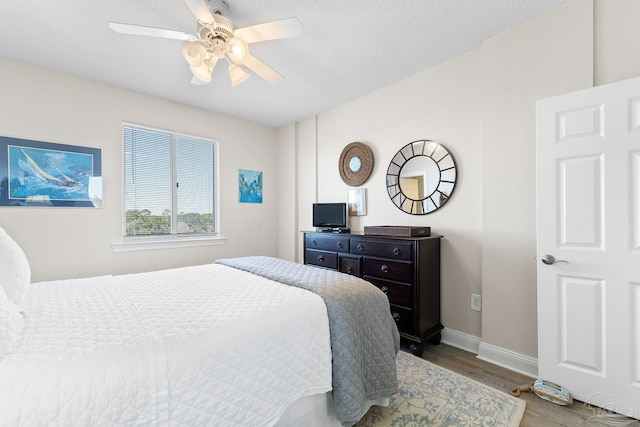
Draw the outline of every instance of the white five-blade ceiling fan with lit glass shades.
<instances>
[{"instance_id":1,"label":"white five-blade ceiling fan with lit glass shades","mask_svg":"<svg viewBox=\"0 0 640 427\"><path fill-rule=\"evenodd\" d=\"M121 34L160 37L183 40L182 54L193 73L193 84L207 84L216 63L225 59L229 63L231 85L242 83L249 77L247 68L271 83L284 77L249 53L249 44L302 33L302 24L297 18L266 22L236 28L231 20L223 16L228 10L224 0L184 0L197 20L196 35L181 31L141 25L112 22L109 27Z\"/></svg>"}]
</instances>

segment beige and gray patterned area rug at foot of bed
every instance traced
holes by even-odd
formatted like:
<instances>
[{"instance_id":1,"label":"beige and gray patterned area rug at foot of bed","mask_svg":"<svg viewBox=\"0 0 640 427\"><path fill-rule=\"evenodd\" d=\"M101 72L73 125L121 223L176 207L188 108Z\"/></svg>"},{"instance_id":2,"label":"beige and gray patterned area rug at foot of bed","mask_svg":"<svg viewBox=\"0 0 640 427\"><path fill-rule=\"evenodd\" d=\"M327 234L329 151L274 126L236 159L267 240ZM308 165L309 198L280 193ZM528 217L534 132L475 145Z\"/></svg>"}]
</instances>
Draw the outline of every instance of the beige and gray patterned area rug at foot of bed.
<instances>
[{"instance_id":1,"label":"beige and gray patterned area rug at foot of bed","mask_svg":"<svg viewBox=\"0 0 640 427\"><path fill-rule=\"evenodd\" d=\"M373 406L357 427L517 427L526 403L412 354L398 353L400 390Z\"/></svg>"}]
</instances>

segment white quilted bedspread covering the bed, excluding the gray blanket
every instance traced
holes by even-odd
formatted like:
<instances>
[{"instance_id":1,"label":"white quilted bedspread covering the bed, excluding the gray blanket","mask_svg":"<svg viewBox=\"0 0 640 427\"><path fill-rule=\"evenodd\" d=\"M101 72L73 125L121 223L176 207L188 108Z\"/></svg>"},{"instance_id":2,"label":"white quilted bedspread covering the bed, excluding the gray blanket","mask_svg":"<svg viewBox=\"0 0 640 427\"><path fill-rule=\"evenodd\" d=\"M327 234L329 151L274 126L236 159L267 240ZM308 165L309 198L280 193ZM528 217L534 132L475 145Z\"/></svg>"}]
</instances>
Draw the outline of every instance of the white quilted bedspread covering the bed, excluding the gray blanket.
<instances>
[{"instance_id":1,"label":"white quilted bedspread covering the bed, excluding the gray blanket","mask_svg":"<svg viewBox=\"0 0 640 427\"><path fill-rule=\"evenodd\" d=\"M326 307L223 265L38 283L0 425L273 425L331 389Z\"/></svg>"}]
</instances>

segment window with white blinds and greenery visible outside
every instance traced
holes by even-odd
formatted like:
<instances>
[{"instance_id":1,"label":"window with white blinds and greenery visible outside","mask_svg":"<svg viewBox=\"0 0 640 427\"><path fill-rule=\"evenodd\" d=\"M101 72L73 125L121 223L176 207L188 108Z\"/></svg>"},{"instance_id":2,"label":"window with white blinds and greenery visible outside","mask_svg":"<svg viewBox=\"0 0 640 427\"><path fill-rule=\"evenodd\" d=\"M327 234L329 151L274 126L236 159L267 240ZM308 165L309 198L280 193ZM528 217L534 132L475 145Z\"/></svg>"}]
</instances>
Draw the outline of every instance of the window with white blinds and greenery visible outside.
<instances>
[{"instance_id":1,"label":"window with white blinds and greenery visible outside","mask_svg":"<svg viewBox=\"0 0 640 427\"><path fill-rule=\"evenodd\" d=\"M124 125L124 235L214 235L216 142Z\"/></svg>"}]
</instances>

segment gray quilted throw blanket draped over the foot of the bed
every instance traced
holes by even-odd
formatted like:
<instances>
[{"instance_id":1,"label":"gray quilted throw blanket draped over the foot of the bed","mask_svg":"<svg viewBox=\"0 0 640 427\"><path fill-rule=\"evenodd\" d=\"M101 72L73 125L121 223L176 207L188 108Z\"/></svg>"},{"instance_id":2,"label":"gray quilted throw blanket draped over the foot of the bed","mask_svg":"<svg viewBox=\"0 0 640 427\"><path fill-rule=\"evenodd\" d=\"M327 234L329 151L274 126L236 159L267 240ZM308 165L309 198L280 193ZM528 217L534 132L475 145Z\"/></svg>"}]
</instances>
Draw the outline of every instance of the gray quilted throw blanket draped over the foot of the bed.
<instances>
[{"instance_id":1,"label":"gray quilted throw blanket draped over the foot of the bed","mask_svg":"<svg viewBox=\"0 0 640 427\"><path fill-rule=\"evenodd\" d=\"M400 335L387 296L371 283L278 258L230 258L216 263L307 289L324 299L331 333L333 400L343 425L362 418L365 401L386 398L398 390Z\"/></svg>"}]
</instances>

